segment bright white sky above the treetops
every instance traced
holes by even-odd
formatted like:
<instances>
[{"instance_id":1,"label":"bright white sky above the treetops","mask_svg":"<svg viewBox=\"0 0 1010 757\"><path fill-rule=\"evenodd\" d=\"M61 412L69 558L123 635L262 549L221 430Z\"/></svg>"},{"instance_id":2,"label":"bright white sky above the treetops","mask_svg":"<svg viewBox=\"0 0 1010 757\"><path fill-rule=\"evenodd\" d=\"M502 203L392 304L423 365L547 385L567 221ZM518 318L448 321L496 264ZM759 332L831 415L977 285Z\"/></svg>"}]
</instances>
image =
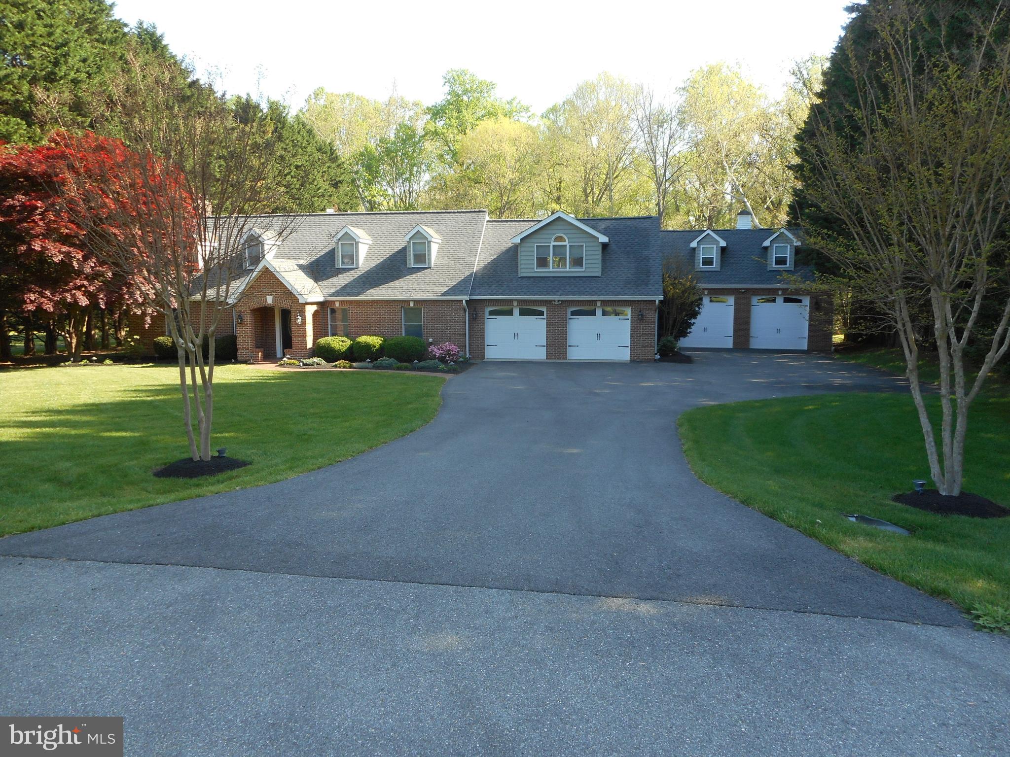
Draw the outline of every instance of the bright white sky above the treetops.
<instances>
[{"instance_id":1,"label":"bright white sky above the treetops","mask_svg":"<svg viewBox=\"0 0 1010 757\"><path fill-rule=\"evenodd\" d=\"M850 2L120 0L116 15L155 23L218 89L294 108L317 87L430 104L462 68L542 113L602 71L663 93L717 61L777 95L793 61L830 52Z\"/></svg>"}]
</instances>

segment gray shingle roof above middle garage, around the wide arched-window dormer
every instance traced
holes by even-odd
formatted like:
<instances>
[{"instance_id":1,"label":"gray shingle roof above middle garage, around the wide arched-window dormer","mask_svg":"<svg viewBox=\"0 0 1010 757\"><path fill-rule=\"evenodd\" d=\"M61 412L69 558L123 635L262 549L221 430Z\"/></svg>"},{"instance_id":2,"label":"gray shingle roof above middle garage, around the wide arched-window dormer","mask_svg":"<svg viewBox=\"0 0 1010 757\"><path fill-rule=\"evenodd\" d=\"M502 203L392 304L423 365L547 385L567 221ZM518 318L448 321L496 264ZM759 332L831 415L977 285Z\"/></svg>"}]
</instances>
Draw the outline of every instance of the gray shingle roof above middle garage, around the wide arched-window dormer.
<instances>
[{"instance_id":1,"label":"gray shingle roof above middle garage, around the wide arched-window dormer","mask_svg":"<svg viewBox=\"0 0 1010 757\"><path fill-rule=\"evenodd\" d=\"M654 216L580 218L610 238L601 276L519 276L519 247L510 240L536 220L489 220L474 276L474 298L663 297L660 222Z\"/></svg>"}]
</instances>

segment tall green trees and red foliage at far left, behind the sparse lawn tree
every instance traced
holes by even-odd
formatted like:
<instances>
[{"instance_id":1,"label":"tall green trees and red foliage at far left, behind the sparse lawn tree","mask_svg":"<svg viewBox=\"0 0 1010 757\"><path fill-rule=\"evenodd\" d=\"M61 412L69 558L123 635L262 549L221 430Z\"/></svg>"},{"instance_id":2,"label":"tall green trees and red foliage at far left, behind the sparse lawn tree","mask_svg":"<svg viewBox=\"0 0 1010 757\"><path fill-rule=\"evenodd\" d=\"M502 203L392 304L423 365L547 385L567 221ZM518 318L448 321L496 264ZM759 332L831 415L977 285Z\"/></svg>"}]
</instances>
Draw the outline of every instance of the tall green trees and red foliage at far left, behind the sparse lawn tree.
<instances>
[{"instance_id":1,"label":"tall green trees and red foliage at far left, behind the sparse lawn tree","mask_svg":"<svg viewBox=\"0 0 1010 757\"><path fill-rule=\"evenodd\" d=\"M179 114L217 110L271 132L272 187L257 212L352 209L359 202L332 142L282 103L227 97L201 81L148 24L127 28L102 0L10 0L0 7L0 359L11 331L25 354L36 334L74 353L123 346L128 298L96 266L87 235L54 214L64 131L123 137L145 107L137 83L174 93ZM159 107L165 109L165 103ZM219 164L224 165L223 155ZM121 282L120 282L121 284Z\"/></svg>"}]
</instances>

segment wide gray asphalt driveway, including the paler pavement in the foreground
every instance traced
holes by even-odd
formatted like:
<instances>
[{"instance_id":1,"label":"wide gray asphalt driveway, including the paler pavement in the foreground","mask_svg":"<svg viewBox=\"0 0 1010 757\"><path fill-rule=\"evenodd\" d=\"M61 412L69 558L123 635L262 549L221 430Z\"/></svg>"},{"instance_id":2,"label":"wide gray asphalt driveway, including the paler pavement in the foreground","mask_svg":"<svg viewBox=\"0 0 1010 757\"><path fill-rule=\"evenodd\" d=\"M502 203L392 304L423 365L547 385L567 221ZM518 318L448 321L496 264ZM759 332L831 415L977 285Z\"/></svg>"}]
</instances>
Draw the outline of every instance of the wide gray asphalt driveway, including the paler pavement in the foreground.
<instances>
[{"instance_id":1,"label":"wide gray asphalt driveway, including the paler pavement in the foreground","mask_svg":"<svg viewBox=\"0 0 1010 757\"><path fill-rule=\"evenodd\" d=\"M702 484L676 436L702 404L901 383L696 358L486 362L343 463L0 540L0 707L257 720L277 753L329 743L324 714L333 753L1005 752L1005 639ZM307 416L292 443L325 439ZM174 734L136 753L247 752Z\"/></svg>"}]
</instances>

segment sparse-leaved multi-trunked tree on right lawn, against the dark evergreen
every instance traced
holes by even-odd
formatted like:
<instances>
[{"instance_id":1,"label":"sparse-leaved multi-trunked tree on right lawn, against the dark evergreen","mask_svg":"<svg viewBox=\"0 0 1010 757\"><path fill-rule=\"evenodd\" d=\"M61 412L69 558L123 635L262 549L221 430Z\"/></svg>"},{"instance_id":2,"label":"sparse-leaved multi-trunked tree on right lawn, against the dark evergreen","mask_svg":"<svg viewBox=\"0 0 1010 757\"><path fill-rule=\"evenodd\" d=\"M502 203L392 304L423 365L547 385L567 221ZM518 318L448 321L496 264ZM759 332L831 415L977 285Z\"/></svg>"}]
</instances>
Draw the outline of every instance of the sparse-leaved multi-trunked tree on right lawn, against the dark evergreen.
<instances>
[{"instance_id":1,"label":"sparse-leaved multi-trunked tree on right lawn, against the dark evergreen","mask_svg":"<svg viewBox=\"0 0 1010 757\"><path fill-rule=\"evenodd\" d=\"M832 60L846 68L850 105L844 117L812 109L798 174L820 219L809 239L833 266L822 283L897 333L931 476L941 494L957 496L969 408L1010 348L1010 44L1005 3L951 6L864 9L870 53L849 46ZM954 12L968 33L948 37ZM966 348L987 310L994 326L972 376ZM920 350L930 343L938 429L919 386Z\"/></svg>"}]
</instances>

